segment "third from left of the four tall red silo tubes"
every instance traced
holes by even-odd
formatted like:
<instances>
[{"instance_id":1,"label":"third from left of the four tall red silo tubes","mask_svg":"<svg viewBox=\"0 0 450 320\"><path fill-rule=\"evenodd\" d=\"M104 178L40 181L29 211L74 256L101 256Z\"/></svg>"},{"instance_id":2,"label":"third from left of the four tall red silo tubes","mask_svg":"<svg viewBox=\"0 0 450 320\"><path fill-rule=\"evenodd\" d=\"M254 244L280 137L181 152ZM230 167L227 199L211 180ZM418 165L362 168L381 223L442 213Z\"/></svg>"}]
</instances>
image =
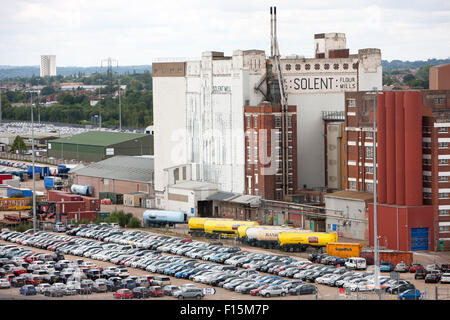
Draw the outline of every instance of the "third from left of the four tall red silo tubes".
<instances>
[{"instance_id":1,"label":"third from left of the four tall red silo tubes","mask_svg":"<svg viewBox=\"0 0 450 320\"><path fill-rule=\"evenodd\" d=\"M405 205L405 118L403 92L395 93L395 183L396 204Z\"/></svg>"}]
</instances>

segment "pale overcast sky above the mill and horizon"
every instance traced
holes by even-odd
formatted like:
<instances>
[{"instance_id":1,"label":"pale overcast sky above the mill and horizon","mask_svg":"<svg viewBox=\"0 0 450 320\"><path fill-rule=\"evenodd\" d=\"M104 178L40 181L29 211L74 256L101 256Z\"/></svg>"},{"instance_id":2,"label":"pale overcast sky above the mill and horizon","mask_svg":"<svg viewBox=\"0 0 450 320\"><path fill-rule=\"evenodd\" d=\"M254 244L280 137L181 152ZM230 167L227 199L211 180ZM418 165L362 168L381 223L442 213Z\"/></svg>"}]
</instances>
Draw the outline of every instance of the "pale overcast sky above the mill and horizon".
<instances>
[{"instance_id":1,"label":"pale overcast sky above the mill and horizon","mask_svg":"<svg viewBox=\"0 0 450 320\"><path fill-rule=\"evenodd\" d=\"M450 57L449 0L0 0L0 65L151 64L214 50L270 51L277 6L282 55L313 56L315 33L343 32L351 53L380 48L386 60Z\"/></svg>"}]
</instances>

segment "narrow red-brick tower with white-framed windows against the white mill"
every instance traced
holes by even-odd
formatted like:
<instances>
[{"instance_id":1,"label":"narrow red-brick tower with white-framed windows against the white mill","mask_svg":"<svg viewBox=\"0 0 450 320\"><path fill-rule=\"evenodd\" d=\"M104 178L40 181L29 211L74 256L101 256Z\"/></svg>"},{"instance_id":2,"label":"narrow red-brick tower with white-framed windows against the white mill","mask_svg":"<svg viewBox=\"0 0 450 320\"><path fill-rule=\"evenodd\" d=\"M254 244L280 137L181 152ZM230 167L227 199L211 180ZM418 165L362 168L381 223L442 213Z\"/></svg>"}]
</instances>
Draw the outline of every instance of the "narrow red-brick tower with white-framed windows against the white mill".
<instances>
[{"instance_id":1,"label":"narrow red-brick tower with white-framed windows against the white mill","mask_svg":"<svg viewBox=\"0 0 450 320\"><path fill-rule=\"evenodd\" d=\"M288 107L286 132L282 128L283 114L280 106L268 102L244 107L245 193L248 195L282 200L283 183L287 185L287 194L297 189L296 106Z\"/></svg>"}]
</instances>

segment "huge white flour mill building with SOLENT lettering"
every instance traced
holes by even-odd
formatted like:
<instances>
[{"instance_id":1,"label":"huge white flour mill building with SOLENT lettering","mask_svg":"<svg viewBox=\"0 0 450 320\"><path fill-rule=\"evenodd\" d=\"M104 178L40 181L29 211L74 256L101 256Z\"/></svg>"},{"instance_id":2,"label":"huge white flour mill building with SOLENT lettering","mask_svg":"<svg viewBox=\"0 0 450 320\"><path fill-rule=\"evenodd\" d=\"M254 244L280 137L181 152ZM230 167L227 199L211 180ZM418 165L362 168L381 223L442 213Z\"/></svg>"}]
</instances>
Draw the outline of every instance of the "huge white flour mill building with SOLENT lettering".
<instances>
[{"instance_id":1,"label":"huge white flour mill building with SOLENT lettering","mask_svg":"<svg viewBox=\"0 0 450 320\"><path fill-rule=\"evenodd\" d=\"M344 34L322 33L314 36L314 58L277 59L278 55L272 52L267 58L263 50L235 50L231 56L208 51L200 60L161 59L153 63L157 197L163 199L167 188L164 169L186 164L192 166L193 181L215 183L224 192L258 193L268 199L282 200L301 189L327 184L341 187L337 171L342 169L338 164L342 160L335 154L327 161L324 124L328 120L324 114L345 111L346 91L382 87L381 52L369 48L350 54ZM254 114L250 121L258 125L272 121L268 128L273 131L277 108L286 108L282 123L287 122L283 119L289 112L295 116L295 137L294 131L282 125L276 146L281 150L281 193L276 181L269 182L272 178L263 179L260 171L254 171L254 163L249 169L249 161L254 159L248 157L246 137L254 139L255 133L254 128L247 130L246 121L254 112L251 110L267 103L273 108L269 112L272 120L261 122ZM343 122L342 116L339 121ZM256 135L259 144L252 152L256 148L258 153L269 155L267 147L272 145ZM335 146L338 138L333 138ZM260 170L262 164L257 165ZM333 181L325 172L330 172Z\"/></svg>"}]
</instances>

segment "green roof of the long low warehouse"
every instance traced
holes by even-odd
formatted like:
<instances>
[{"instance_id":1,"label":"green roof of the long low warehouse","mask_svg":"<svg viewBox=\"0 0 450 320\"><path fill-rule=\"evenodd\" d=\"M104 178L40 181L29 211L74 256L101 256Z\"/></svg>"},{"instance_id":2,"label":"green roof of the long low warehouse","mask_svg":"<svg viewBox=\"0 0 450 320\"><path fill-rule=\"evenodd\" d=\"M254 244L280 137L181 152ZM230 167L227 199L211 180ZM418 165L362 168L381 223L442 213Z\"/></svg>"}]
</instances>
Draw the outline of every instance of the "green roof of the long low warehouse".
<instances>
[{"instance_id":1,"label":"green roof of the long low warehouse","mask_svg":"<svg viewBox=\"0 0 450 320\"><path fill-rule=\"evenodd\" d=\"M71 137L55 139L51 143L68 143L89 146L110 146L112 144L122 143L137 138L145 137L146 134L125 133L125 132L108 132L108 131L88 131Z\"/></svg>"}]
</instances>

